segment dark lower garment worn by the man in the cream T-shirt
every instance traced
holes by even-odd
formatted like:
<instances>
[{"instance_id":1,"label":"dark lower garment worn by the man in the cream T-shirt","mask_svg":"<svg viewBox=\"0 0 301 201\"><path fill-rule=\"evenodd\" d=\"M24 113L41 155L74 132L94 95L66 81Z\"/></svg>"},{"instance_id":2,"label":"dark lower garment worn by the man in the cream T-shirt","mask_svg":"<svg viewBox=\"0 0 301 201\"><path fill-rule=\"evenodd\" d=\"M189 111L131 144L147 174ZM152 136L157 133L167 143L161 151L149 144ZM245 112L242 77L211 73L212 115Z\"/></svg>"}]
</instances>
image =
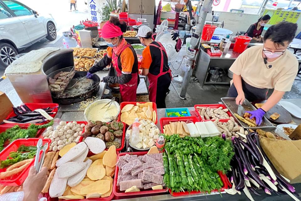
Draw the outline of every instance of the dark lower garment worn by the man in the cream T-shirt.
<instances>
[{"instance_id":1,"label":"dark lower garment worn by the man in the cream T-shirt","mask_svg":"<svg viewBox=\"0 0 301 201\"><path fill-rule=\"evenodd\" d=\"M269 89L266 88L257 88L249 85L243 79L241 79L242 90L245 94L245 98L250 102L261 102L267 100L267 93ZM238 96L237 90L234 84L231 84L227 97L236 98Z\"/></svg>"}]
</instances>

